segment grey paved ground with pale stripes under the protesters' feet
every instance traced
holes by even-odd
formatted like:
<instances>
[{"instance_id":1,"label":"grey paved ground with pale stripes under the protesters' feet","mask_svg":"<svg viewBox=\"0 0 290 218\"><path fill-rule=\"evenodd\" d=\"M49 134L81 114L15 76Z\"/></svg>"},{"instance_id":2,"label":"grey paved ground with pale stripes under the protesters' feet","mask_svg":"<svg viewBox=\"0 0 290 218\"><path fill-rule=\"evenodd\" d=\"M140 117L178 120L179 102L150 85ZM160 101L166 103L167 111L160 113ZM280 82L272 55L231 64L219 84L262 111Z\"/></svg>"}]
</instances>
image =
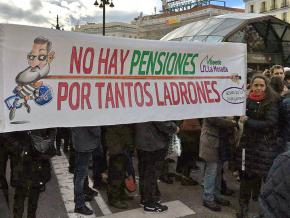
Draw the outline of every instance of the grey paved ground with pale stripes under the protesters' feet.
<instances>
[{"instance_id":1,"label":"grey paved ground with pale stripes under the protesters' feet","mask_svg":"<svg viewBox=\"0 0 290 218\"><path fill-rule=\"evenodd\" d=\"M174 184L165 184L159 182L162 193L162 202L169 206L169 210L163 214L144 214L139 206L140 197L138 192L133 193L134 200L129 202L128 210L118 210L108 206L106 190L101 189L99 196L88 205L94 210L93 216L81 216L73 213L73 175L68 172L67 157L57 156L52 160L53 174L51 181L47 184L46 191L41 194L37 218L82 218L82 217L101 217L108 218L234 218L238 206L238 189L239 183L234 176L226 170L226 179L231 189L235 193L231 197L225 197L230 200L230 207L223 207L221 212L212 212L202 206L202 186L182 186L179 181ZM192 174L199 182L202 182L202 164L199 163L201 171ZM8 175L9 176L9 171ZM13 205L13 188L9 187L10 205ZM10 206L12 207L12 206ZM258 213L257 202L251 202L250 212L252 215ZM0 217L9 218L11 212L7 208L0 194ZM25 217L25 216L24 216Z\"/></svg>"}]
</instances>

